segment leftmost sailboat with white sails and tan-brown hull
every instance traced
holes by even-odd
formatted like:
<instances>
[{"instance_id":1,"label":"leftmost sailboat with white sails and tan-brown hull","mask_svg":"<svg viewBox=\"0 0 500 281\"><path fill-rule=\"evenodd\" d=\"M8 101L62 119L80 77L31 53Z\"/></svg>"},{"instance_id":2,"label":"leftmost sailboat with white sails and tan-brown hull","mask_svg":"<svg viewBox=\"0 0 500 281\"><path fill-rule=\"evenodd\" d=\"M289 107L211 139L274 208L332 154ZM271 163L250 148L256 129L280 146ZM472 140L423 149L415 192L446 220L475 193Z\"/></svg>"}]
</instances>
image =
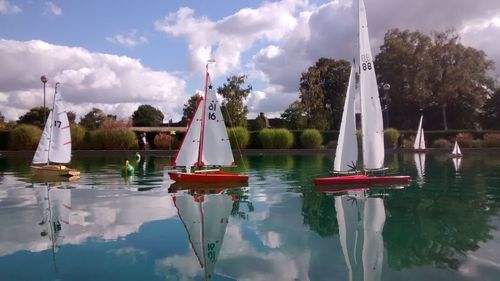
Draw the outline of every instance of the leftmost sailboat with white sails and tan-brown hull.
<instances>
[{"instance_id":1,"label":"leftmost sailboat with white sails and tan-brown hull","mask_svg":"<svg viewBox=\"0 0 500 281\"><path fill-rule=\"evenodd\" d=\"M38 143L31 171L35 175L77 177L80 172L62 164L71 161L71 130L56 83L54 106Z\"/></svg>"}]
</instances>

